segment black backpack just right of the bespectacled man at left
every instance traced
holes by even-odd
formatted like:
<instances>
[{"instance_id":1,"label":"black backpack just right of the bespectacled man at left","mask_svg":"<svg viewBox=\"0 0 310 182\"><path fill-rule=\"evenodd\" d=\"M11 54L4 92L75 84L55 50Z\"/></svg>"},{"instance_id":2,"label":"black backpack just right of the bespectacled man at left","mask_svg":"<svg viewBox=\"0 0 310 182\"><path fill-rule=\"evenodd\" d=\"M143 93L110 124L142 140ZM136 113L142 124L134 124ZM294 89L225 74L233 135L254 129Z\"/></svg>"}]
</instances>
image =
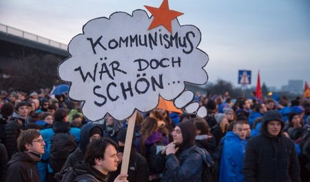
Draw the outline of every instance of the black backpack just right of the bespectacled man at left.
<instances>
[{"instance_id":1,"label":"black backpack just right of the bespectacled man at left","mask_svg":"<svg viewBox=\"0 0 310 182\"><path fill-rule=\"evenodd\" d=\"M67 132L55 133L50 146L50 167L54 172L61 171L69 154L76 149L76 141L72 134Z\"/></svg>"}]
</instances>

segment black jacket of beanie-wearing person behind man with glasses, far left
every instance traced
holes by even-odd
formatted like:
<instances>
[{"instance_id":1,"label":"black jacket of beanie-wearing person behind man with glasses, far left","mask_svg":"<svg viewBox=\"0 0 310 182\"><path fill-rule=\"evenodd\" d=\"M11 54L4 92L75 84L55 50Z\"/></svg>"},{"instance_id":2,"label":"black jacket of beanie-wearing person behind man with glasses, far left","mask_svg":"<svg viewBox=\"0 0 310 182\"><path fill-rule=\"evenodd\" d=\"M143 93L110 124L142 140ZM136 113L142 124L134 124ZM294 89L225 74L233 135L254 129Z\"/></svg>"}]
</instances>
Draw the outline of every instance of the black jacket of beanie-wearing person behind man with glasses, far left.
<instances>
[{"instance_id":1,"label":"black jacket of beanie-wearing person behind man with glasses, far left","mask_svg":"<svg viewBox=\"0 0 310 182\"><path fill-rule=\"evenodd\" d=\"M6 150L8 151L9 159L14 154L17 148L17 138L25 130L25 119L16 112L13 113L12 120L6 124Z\"/></svg>"}]
</instances>

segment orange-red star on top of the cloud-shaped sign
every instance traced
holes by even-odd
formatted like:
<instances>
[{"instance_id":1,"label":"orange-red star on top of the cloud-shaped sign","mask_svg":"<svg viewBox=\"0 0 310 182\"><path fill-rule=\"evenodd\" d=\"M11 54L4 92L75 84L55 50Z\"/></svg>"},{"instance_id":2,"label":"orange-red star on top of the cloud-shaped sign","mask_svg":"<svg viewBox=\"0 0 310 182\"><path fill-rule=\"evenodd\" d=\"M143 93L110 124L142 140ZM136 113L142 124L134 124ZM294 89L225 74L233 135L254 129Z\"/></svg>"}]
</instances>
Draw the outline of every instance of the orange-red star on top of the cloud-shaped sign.
<instances>
[{"instance_id":1,"label":"orange-red star on top of the cloud-shaped sign","mask_svg":"<svg viewBox=\"0 0 310 182\"><path fill-rule=\"evenodd\" d=\"M169 10L168 0L163 0L159 8L154 8L151 6L144 6L152 13L154 19L149 26L148 30L156 28L158 26L164 26L170 33L172 33L172 23L171 21L176 17L184 14L183 12L177 12L174 10Z\"/></svg>"}]
</instances>

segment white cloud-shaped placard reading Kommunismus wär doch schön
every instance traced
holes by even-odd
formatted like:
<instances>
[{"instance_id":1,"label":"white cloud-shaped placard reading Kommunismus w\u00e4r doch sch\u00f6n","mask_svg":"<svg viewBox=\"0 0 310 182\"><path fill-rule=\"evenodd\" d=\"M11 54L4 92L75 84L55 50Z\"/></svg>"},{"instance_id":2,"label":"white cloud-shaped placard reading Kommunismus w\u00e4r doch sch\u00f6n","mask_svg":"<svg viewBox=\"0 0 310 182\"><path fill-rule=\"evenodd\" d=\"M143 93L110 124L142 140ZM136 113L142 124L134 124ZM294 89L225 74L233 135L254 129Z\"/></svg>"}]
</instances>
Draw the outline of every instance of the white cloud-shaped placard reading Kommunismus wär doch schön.
<instances>
[{"instance_id":1,"label":"white cloud-shaped placard reading Kommunismus w\u00e4r doch sch\u00f6n","mask_svg":"<svg viewBox=\"0 0 310 182\"><path fill-rule=\"evenodd\" d=\"M144 10L115 12L109 19L88 21L83 34L70 41L70 57L59 64L59 77L70 83L70 99L84 101L87 119L109 113L123 120L135 109L156 108L159 95L175 99L179 108L206 114L205 108L190 103L194 94L185 92L185 82L207 82L203 67L209 58L197 48L200 31L180 26L177 19L172 34L162 26L147 30L152 19Z\"/></svg>"}]
</instances>

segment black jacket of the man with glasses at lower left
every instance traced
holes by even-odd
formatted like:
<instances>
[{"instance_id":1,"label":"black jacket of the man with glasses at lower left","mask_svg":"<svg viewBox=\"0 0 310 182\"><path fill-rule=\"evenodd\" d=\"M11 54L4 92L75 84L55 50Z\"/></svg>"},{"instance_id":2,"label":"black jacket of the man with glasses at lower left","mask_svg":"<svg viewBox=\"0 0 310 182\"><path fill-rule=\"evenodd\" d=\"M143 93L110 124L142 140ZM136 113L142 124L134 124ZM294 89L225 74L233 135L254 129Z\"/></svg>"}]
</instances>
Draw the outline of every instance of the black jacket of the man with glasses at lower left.
<instances>
[{"instance_id":1,"label":"black jacket of the man with glasses at lower left","mask_svg":"<svg viewBox=\"0 0 310 182\"><path fill-rule=\"evenodd\" d=\"M14 154L12 159L8 162L6 182L39 182L40 177L37 170L37 162L39 162L40 159L40 157L30 152L18 152Z\"/></svg>"}]
</instances>

